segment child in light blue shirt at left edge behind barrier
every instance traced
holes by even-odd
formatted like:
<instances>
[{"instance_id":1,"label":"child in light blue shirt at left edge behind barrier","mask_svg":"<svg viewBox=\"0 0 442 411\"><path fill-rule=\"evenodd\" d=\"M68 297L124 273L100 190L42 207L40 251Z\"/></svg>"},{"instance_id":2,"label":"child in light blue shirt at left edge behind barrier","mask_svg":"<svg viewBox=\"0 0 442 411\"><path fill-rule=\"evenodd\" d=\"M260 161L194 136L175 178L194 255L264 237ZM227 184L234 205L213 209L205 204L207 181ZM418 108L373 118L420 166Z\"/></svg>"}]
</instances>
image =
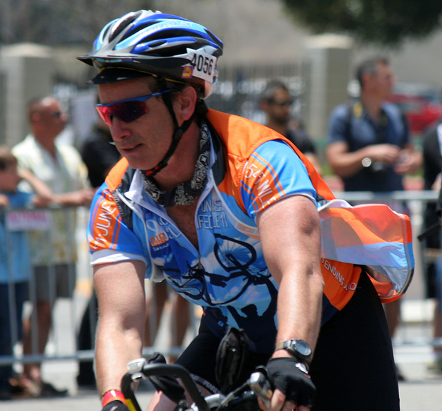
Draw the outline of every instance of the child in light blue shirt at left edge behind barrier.
<instances>
[{"instance_id":1,"label":"child in light blue shirt at left edge behind barrier","mask_svg":"<svg viewBox=\"0 0 442 411\"><path fill-rule=\"evenodd\" d=\"M20 180L26 180L36 195L19 191ZM12 356L14 344L21 339L21 315L31 269L26 233L20 229L7 231L6 207L44 206L50 195L48 187L32 173L19 173L17 159L9 149L0 146L0 356ZM0 400L12 398L11 378L12 365L1 365Z\"/></svg>"}]
</instances>

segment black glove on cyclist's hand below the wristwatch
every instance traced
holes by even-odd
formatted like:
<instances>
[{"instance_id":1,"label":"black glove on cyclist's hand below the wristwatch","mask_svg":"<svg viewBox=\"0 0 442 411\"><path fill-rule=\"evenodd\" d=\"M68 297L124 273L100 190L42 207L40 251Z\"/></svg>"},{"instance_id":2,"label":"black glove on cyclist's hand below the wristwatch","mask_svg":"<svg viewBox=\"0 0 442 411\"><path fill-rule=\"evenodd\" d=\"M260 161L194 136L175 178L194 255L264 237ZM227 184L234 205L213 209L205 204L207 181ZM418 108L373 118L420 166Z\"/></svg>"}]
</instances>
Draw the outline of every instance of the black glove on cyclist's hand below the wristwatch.
<instances>
[{"instance_id":1,"label":"black glove on cyclist's hand below the wristwatch","mask_svg":"<svg viewBox=\"0 0 442 411\"><path fill-rule=\"evenodd\" d=\"M296 359L269 359L267 373L273 388L282 391L287 401L311 408L316 388L311 382L310 375L300 370L299 366L299 361Z\"/></svg>"}]
</instances>

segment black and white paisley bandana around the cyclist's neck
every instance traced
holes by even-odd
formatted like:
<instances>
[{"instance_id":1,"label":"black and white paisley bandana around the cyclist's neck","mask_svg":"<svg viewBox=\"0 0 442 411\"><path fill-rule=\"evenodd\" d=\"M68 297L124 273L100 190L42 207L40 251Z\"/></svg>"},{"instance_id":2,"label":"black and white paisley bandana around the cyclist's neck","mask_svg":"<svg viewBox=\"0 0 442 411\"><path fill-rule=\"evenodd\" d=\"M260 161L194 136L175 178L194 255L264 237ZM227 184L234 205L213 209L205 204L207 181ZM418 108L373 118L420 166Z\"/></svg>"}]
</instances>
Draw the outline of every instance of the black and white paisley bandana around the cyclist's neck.
<instances>
[{"instance_id":1,"label":"black and white paisley bandana around the cyclist's neck","mask_svg":"<svg viewBox=\"0 0 442 411\"><path fill-rule=\"evenodd\" d=\"M202 193L204 184L206 184L209 157L209 128L206 122L202 122L200 126L200 154L195 164L195 172L193 173L192 180L182 182L169 191L162 191L157 186L154 178L143 175L144 191L146 191L157 204L163 207L192 204L198 195Z\"/></svg>"}]
</instances>

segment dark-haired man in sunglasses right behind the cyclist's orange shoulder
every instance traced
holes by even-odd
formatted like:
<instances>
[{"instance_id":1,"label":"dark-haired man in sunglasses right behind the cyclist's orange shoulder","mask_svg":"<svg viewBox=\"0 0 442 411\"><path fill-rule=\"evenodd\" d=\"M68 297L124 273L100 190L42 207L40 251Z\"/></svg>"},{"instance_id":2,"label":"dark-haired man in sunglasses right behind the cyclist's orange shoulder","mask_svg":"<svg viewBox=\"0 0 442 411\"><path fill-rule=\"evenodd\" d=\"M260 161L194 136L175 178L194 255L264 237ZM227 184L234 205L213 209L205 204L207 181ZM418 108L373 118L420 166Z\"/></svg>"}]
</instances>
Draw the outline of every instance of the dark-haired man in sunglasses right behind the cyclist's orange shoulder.
<instances>
[{"instance_id":1,"label":"dark-haired man in sunglasses right behind the cyclist's orange shoulder","mask_svg":"<svg viewBox=\"0 0 442 411\"><path fill-rule=\"evenodd\" d=\"M271 80L260 96L260 108L267 114L266 126L287 137L309 159L316 171L321 173L314 143L300 124L291 119L293 102L287 86L279 80ZM296 127L292 127L293 125Z\"/></svg>"}]
</instances>

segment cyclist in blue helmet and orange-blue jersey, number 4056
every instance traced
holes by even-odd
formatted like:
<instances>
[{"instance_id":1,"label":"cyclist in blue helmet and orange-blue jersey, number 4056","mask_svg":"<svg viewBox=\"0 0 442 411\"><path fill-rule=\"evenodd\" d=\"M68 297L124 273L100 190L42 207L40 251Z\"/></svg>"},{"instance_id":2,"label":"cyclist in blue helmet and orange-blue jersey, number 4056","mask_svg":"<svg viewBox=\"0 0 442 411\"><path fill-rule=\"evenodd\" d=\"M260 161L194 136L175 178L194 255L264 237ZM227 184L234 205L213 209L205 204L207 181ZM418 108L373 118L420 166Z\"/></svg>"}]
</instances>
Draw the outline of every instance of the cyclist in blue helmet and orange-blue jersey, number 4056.
<instances>
[{"instance_id":1,"label":"cyclist in blue helmet and orange-blue jersey, number 4056","mask_svg":"<svg viewBox=\"0 0 442 411\"><path fill-rule=\"evenodd\" d=\"M332 193L285 137L204 103L222 47L198 23L140 10L108 23L79 57L99 70L97 109L124 157L88 226L103 410L127 410L120 383L142 352L144 278L166 278L203 307L176 363L204 393L218 390L218 344L236 327L250 350L238 384L267 365L269 409L398 410L372 282L363 267L320 256L318 207ZM173 403L157 392L153 408Z\"/></svg>"}]
</instances>

